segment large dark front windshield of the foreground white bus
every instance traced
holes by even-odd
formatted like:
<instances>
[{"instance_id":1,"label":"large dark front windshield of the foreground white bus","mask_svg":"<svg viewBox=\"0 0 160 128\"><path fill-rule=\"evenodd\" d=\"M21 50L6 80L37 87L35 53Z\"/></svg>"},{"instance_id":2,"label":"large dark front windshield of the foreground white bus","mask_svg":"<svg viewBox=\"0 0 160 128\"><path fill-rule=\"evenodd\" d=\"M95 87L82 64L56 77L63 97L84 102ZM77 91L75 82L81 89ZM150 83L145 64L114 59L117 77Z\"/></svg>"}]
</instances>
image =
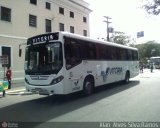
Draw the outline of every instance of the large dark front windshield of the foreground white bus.
<instances>
[{"instance_id":1,"label":"large dark front windshield of the foreground white bus","mask_svg":"<svg viewBox=\"0 0 160 128\"><path fill-rule=\"evenodd\" d=\"M25 73L28 75L57 74L63 65L62 58L60 42L28 46L25 56Z\"/></svg>"}]
</instances>

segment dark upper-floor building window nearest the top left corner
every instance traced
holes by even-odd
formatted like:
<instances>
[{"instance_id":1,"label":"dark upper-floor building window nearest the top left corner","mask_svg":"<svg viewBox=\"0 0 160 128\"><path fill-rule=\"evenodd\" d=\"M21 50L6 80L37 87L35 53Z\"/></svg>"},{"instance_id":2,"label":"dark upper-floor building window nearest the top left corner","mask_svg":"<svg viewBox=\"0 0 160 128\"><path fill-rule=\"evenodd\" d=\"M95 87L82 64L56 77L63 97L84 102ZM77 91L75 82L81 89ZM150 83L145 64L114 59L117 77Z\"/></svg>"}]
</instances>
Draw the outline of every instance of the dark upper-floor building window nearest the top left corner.
<instances>
[{"instance_id":1,"label":"dark upper-floor building window nearest the top left corner","mask_svg":"<svg viewBox=\"0 0 160 128\"><path fill-rule=\"evenodd\" d=\"M1 7L1 20L11 22L11 9Z\"/></svg>"}]
</instances>

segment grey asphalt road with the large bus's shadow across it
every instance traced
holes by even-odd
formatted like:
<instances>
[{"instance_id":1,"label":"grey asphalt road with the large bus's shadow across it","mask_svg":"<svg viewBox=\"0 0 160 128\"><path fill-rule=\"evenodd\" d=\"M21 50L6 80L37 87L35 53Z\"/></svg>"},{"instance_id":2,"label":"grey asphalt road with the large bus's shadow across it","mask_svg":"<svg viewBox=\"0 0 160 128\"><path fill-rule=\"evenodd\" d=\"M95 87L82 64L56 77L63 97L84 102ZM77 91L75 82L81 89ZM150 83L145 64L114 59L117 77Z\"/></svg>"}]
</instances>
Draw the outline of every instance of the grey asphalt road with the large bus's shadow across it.
<instances>
[{"instance_id":1,"label":"grey asphalt road with the large bus's shadow across it","mask_svg":"<svg viewBox=\"0 0 160 128\"><path fill-rule=\"evenodd\" d=\"M144 70L127 85L115 83L103 86L89 97L80 94L48 97L19 92L19 95L0 98L0 122L18 122L20 126L24 125L21 122L29 122L25 124L27 127L31 123L33 127L43 127L45 122L69 122L61 127L72 127L71 122L92 122L90 127L110 126L100 122L159 122L159 83L160 70L153 73ZM84 127L82 123L75 125ZM85 125L89 127L90 124ZM128 126L126 123L121 125Z\"/></svg>"}]
</instances>

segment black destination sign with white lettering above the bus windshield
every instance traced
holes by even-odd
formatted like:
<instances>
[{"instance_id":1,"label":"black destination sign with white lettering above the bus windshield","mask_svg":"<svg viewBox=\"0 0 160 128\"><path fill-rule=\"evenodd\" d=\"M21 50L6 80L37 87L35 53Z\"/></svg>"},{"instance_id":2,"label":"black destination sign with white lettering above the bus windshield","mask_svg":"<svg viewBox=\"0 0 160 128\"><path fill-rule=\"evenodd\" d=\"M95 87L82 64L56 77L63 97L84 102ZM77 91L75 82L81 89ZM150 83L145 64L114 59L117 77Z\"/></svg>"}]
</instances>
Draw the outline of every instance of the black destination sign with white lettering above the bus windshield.
<instances>
[{"instance_id":1,"label":"black destination sign with white lettering above the bus windshield","mask_svg":"<svg viewBox=\"0 0 160 128\"><path fill-rule=\"evenodd\" d=\"M50 41L50 40L58 40L58 33L50 33L50 34L43 34L43 35L38 35L34 36L28 39L27 45L29 44L34 44L38 42L45 42L45 41Z\"/></svg>"}]
</instances>

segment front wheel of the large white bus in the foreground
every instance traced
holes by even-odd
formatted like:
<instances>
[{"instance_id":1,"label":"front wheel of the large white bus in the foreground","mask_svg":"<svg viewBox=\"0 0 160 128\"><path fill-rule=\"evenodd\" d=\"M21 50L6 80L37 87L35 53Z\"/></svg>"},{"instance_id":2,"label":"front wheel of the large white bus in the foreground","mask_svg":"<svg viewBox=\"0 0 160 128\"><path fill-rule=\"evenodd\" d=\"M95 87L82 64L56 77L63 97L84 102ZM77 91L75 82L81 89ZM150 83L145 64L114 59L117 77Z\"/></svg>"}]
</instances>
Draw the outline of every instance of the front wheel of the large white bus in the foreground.
<instances>
[{"instance_id":1,"label":"front wheel of the large white bus in the foreground","mask_svg":"<svg viewBox=\"0 0 160 128\"><path fill-rule=\"evenodd\" d=\"M89 96L93 93L94 81L91 78L86 78L83 84L83 94Z\"/></svg>"}]
</instances>

